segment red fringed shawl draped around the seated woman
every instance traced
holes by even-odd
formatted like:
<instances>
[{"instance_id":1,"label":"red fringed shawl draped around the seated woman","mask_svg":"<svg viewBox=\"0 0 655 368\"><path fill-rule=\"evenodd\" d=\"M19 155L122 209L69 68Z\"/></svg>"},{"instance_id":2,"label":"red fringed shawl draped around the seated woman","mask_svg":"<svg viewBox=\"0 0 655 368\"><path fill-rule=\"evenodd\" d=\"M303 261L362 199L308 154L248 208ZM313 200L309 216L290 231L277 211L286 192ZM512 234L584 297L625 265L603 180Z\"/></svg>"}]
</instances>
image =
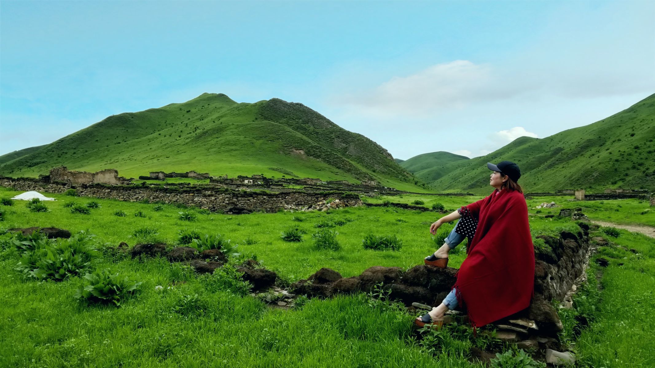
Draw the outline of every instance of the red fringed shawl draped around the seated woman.
<instances>
[{"instance_id":1,"label":"red fringed shawl draped around the seated woman","mask_svg":"<svg viewBox=\"0 0 655 368\"><path fill-rule=\"evenodd\" d=\"M522 193L494 191L466 207L479 222L454 287L473 326L481 327L529 307L534 246Z\"/></svg>"}]
</instances>

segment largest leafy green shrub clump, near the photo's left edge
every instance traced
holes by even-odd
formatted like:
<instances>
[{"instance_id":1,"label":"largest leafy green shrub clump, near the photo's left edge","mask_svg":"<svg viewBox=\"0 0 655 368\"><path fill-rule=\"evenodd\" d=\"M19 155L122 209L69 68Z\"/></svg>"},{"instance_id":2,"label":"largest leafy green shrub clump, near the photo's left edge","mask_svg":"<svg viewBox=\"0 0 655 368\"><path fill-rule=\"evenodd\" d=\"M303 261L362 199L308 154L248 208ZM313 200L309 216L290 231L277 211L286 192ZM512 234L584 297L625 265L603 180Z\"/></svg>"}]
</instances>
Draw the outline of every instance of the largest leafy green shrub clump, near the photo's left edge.
<instances>
[{"instance_id":1,"label":"largest leafy green shrub clump, near the photo's left edge","mask_svg":"<svg viewBox=\"0 0 655 368\"><path fill-rule=\"evenodd\" d=\"M91 236L81 232L70 239L39 241L23 253L16 269L37 280L64 280L86 271L98 255Z\"/></svg>"}]
</instances>

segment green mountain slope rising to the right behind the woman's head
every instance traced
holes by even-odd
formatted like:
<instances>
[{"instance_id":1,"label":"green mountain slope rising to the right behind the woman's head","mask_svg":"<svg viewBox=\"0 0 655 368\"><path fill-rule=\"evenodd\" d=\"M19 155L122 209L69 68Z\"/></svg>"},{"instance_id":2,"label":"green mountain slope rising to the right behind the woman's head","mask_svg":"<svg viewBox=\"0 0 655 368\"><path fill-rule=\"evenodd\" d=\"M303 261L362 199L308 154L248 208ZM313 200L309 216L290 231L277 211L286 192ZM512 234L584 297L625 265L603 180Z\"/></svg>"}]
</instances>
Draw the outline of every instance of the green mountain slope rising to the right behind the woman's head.
<instances>
[{"instance_id":1,"label":"green mountain slope rising to the right behind the woman's head","mask_svg":"<svg viewBox=\"0 0 655 368\"><path fill-rule=\"evenodd\" d=\"M544 139L520 137L487 156L452 163L455 167L431 184L440 191L487 193L486 163L509 160L521 168L519 183L526 192L655 190L654 139L655 94L599 122Z\"/></svg>"}]
</instances>

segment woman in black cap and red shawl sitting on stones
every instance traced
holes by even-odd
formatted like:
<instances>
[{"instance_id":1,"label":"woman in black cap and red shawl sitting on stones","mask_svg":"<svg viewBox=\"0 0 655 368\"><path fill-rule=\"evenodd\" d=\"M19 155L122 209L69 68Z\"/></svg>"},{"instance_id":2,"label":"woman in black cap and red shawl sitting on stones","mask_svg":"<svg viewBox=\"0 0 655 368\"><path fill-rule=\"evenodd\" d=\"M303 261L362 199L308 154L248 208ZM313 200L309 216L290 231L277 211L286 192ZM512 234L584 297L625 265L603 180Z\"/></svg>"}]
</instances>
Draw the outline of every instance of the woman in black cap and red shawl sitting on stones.
<instances>
[{"instance_id":1,"label":"woman in black cap and red shawl sitting on stones","mask_svg":"<svg viewBox=\"0 0 655 368\"><path fill-rule=\"evenodd\" d=\"M518 165L502 161L487 163L493 171L489 185L495 190L489 197L444 216L430 226L430 232L457 218L477 219L469 241L468 256L462 263L455 286L443 303L416 319L419 326L440 327L447 310L466 307L471 324L481 327L510 316L530 305L534 288L534 246L528 225L528 209ZM474 220L472 220L474 222ZM458 223L458 230L462 222ZM460 237L453 235L453 232ZM445 267L448 251L464 239L463 230L453 231L426 263ZM454 245L453 245L454 244ZM443 261L445 259L445 261ZM439 263L441 262L441 263ZM439 264L436 264L439 263Z\"/></svg>"}]
</instances>

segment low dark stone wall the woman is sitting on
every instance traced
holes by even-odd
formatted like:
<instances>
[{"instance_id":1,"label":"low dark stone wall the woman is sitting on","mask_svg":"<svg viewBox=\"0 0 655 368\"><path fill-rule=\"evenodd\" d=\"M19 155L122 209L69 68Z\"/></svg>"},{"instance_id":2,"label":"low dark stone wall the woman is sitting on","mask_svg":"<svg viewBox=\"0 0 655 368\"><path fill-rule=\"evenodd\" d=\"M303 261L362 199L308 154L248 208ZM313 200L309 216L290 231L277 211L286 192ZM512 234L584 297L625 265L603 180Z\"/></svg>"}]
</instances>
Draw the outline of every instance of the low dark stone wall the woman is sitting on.
<instances>
[{"instance_id":1,"label":"low dark stone wall the woman is sitting on","mask_svg":"<svg viewBox=\"0 0 655 368\"><path fill-rule=\"evenodd\" d=\"M534 296L528 309L511 318L527 318L535 321L540 331L554 335L563 326L551 301L563 301L574 282L585 272L591 254L589 226L578 223L580 231L563 231L559 237L541 236L552 251L535 254ZM440 269L417 265L409 271L400 267L371 267L360 276L343 278L330 269L320 269L307 280L292 285L296 293L309 296L329 297L337 293L369 292L382 283L390 290L390 297L407 305L424 303L436 307L455 284L457 269Z\"/></svg>"}]
</instances>

